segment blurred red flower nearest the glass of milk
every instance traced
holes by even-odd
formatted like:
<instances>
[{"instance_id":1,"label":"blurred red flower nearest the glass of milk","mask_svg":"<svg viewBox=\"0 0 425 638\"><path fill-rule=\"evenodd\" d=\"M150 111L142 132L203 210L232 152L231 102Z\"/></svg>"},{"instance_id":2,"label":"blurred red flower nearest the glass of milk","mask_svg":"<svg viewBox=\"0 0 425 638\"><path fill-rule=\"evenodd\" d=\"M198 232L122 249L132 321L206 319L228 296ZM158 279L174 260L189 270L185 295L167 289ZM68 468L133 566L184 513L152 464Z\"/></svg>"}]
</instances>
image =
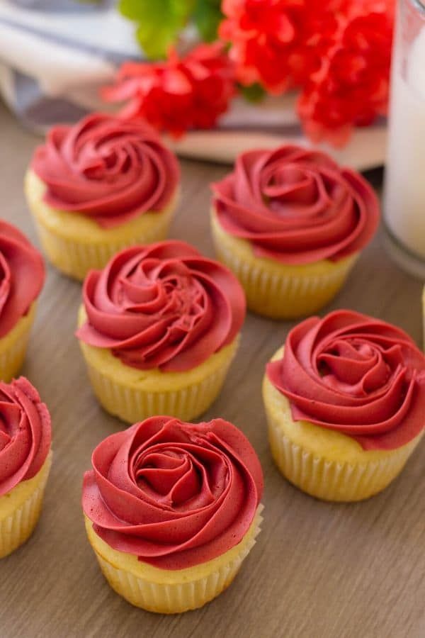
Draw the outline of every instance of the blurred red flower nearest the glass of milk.
<instances>
[{"instance_id":1,"label":"blurred red flower nearest the glass of milk","mask_svg":"<svg viewBox=\"0 0 425 638\"><path fill-rule=\"evenodd\" d=\"M300 96L298 111L314 141L327 138L341 145L353 126L367 126L387 111L392 14L351 15L341 40L327 52Z\"/></svg>"}]
</instances>

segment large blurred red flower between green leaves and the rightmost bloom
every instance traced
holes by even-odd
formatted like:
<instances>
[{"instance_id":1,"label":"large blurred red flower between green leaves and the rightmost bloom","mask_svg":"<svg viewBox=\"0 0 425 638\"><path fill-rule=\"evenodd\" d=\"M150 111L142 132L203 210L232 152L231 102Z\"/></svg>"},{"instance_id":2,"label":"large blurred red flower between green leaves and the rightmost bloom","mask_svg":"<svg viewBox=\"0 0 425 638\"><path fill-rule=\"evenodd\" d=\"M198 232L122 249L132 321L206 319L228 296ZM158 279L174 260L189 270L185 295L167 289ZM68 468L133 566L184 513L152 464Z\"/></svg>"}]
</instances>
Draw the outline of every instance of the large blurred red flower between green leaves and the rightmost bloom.
<instances>
[{"instance_id":1,"label":"large blurred red flower between green leaves and the rightmost bloom","mask_svg":"<svg viewBox=\"0 0 425 638\"><path fill-rule=\"evenodd\" d=\"M259 82L279 94L317 71L334 43L344 0L223 0L219 35L242 84Z\"/></svg>"}]
</instances>

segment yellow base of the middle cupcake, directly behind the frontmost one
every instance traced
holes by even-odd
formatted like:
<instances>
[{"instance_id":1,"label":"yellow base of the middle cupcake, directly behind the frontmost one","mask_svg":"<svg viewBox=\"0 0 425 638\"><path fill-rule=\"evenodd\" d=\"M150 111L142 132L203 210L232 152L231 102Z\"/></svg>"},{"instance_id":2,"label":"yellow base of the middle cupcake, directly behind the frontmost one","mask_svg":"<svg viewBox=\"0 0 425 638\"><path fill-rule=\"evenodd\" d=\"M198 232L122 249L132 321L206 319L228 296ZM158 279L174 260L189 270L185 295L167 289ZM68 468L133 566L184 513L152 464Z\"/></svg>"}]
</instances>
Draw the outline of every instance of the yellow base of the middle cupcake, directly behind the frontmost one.
<instances>
[{"instance_id":1,"label":"yellow base of the middle cupcake, directly behind the frontmost one","mask_svg":"<svg viewBox=\"0 0 425 638\"><path fill-rule=\"evenodd\" d=\"M85 317L81 308L79 325ZM220 393L238 343L239 337L184 372L138 370L123 364L109 349L81 341L80 347L99 403L123 421L135 423L158 414L191 421L208 410Z\"/></svg>"}]
</instances>

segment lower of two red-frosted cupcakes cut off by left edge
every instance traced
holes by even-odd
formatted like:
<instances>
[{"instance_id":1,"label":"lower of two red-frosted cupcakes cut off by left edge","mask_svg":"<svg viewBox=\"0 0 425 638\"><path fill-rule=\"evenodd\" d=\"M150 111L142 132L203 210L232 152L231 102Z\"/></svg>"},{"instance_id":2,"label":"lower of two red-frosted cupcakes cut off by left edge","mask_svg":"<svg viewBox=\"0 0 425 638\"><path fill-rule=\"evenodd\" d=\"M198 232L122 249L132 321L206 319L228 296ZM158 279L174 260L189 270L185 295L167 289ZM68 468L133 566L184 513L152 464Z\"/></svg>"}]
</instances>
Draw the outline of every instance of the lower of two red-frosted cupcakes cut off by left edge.
<instances>
[{"instance_id":1,"label":"lower of two red-frosted cupcakes cut off by left edge","mask_svg":"<svg viewBox=\"0 0 425 638\"><path fill-rule=\"evenodd\" d=\"M27 379L0 382L0 558L28 540L49 476L50 414Z\"/></svg>"}]
</instances>

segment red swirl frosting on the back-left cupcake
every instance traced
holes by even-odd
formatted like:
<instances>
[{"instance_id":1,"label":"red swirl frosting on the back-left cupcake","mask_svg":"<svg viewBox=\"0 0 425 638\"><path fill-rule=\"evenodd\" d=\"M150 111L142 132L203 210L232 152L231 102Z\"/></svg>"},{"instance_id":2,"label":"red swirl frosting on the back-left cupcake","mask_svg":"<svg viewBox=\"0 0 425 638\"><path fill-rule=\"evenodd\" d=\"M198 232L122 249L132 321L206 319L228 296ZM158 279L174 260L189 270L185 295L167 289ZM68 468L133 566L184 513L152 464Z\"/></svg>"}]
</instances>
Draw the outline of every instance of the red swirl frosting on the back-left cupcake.
<instances>
[{"instance_id":1,"label":"red swirl frosting on the back-left cupcake","mask_svg":"<svg viewBox=\"0 0 425 638\"><path fill-rule=\"evenodd\" d=\"M47 186L49 206L103 228L162 211L179 181L176 157L147 123L102 113L52 127L31 168Z\"/></svg>"}]
</instances>

